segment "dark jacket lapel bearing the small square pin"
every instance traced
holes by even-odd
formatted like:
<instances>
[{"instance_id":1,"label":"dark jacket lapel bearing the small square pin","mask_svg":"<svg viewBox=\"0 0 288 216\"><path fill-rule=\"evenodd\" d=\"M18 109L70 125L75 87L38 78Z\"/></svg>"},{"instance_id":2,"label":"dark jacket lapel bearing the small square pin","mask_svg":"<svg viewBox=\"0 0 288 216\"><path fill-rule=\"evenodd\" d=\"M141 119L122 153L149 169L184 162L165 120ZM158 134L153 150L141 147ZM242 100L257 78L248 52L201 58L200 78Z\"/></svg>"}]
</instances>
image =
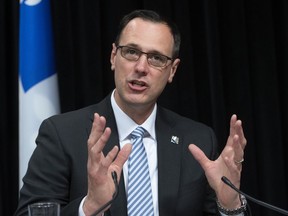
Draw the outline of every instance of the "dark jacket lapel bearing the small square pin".
<instances>
[{"instance_id":1,"label":"dark jacket lapel bearing the small square pin","mask_svg":"<svg viewBox=\"0 0 288 216\"><path fill-rule=\"evenodd\" d=\"M159 215L175 215L181 166L181 140L159 109L156 119ZM164 199L165 197L165 199Z\"/></svg>"}]
</instances>

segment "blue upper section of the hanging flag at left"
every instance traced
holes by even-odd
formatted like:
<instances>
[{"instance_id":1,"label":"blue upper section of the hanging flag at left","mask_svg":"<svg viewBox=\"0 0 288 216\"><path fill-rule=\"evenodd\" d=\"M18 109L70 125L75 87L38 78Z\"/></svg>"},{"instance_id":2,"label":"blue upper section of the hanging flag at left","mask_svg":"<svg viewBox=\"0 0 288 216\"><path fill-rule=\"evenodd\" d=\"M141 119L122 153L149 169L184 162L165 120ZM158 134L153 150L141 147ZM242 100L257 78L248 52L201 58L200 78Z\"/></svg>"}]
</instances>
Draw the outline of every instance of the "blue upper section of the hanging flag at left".
<instances>
[{"instance_id":1,"label":"blue upper section of the hanging flag at left","mask_svg":"<svg viewBox=\"0 0 288 216\"><path fill-rule=\"evenodd\" d=\"M19 74L24 91L55 73L50 3L20 4Z\"/></svg>"}]
</instances>

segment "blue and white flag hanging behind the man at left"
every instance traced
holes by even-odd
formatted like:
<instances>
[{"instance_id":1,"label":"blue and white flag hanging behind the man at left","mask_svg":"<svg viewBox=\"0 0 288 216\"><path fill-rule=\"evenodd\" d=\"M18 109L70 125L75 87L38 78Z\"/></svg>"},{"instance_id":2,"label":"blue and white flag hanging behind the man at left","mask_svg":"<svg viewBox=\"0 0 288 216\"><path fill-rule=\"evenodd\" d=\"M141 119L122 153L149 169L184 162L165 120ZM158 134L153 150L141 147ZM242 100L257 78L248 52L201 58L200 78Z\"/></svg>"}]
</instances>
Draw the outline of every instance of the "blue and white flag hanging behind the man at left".
<instances>
[{"instance_id":1,"label":"blue and white flag hanging behind the man at left","mask_svg":"<svg viewBox=\"0 0 288 216\"><path fill-rule=\"evenodd\" d=\"M49 0L20 0L19 187L41 122L60 112Z\"/></svg>"}]
</instances>

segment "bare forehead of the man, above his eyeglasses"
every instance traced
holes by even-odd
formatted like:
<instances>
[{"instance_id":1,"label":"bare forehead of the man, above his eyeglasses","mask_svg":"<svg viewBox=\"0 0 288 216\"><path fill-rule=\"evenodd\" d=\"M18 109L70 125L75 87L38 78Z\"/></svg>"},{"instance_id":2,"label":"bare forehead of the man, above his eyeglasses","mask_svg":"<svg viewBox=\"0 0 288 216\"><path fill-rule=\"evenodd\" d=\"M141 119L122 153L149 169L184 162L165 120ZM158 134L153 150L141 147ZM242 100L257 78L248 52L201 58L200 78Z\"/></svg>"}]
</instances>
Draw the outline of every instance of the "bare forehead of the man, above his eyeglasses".
<instances>
[{"instance_id":1,"label":"bare forehead of the man, above his eyeglasses","mask_svg":"<svg viewBox=\"0 0 288 216\"><path fill-rule=\"evenodd\" d=\"M133 44L146 52L159 51L171 54L174 39L167 25L135 18L123 29L119 43Z\"/></svg>"}]
</instances>

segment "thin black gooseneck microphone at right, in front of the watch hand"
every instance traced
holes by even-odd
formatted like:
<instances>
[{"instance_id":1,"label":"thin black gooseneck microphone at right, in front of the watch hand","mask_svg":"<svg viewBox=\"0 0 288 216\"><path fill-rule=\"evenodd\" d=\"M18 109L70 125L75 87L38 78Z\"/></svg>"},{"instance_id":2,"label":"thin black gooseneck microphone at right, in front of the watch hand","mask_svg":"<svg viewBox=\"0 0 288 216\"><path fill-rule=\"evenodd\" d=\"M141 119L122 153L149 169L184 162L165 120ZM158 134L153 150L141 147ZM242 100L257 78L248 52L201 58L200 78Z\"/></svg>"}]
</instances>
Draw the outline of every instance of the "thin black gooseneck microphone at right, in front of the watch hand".
<instances>
[{"instance_id":1,"label":"thin black gooseneck microphone at right, in front of the watch hand","mask_svg":"<svg viewBox=\"0 0 288 216\"><path fill-rule=\"evenodd\" d=\"M284 209L281 209L281 208L278 208L276 206L273 206L273 205L270 205L268 203L265 203L263 201L260 201L260 200L257 200L247 194L245 194L244 192L242 192L241 190L239 190L235 185L232 184L232 182L225 176L222 176L221 180L226 184L228 185L229 187L231 187L233 190L237 191L239 194L242 194L244 195L248 200L251 200L252 202L255 202L257 203L258 205L261 205L265 208L268 208L270 210L273 210L273 211L276 211L278 213L281 213L283 215L288 215L288 211L284 210Z\"/></svg>"}]
</instances>

